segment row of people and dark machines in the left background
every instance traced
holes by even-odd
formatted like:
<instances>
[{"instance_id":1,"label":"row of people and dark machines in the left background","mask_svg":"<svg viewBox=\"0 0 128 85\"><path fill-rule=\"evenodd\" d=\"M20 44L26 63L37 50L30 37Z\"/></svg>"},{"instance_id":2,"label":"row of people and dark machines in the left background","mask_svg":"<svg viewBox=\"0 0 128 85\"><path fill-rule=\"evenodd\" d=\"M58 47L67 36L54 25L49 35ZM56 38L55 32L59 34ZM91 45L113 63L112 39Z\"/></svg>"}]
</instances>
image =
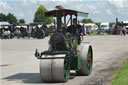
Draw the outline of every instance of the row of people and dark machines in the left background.
<instances>
[{"instance_id":1,"label":"row of people and dark machines in the left background","mask_svg":"<svg viewBox=\"0 0 128 85\"><path fill-rule=\"evenodd\" d=\"M12 38L36 38L37 32L40 33L38 26L33 27L16 27L16 26L6 26L0 28L0 38L1 39L12 39ZM42 31L41 31L42 32ZM43 31L44 36L44 31Z\"/></svg>"}]
</instances>

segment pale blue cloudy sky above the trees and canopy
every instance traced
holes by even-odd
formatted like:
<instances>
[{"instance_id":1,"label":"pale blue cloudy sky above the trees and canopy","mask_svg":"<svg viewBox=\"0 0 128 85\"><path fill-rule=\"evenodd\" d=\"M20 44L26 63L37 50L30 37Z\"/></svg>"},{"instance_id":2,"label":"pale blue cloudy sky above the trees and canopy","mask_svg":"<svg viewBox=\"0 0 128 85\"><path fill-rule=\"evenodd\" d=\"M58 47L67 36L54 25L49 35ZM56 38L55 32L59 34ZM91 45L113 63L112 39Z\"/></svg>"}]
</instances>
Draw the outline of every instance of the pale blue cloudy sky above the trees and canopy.
<instances>
[{"instance_id":1,"label":"pale blue cloudy sky above the trees and canopy","mask_svg":"<svg viewBox=\"0 0 128 85\"><path fill-rule=\"evenodd\" d=\"M115 22L116 17L128 21L128 0L0 0L0 12L13 13L18 19L24 18L26 23L31 23L41 4L48 10L61 5L66 9L87 12L88 18L95 22Z\"/></svg>"}]
</instances>

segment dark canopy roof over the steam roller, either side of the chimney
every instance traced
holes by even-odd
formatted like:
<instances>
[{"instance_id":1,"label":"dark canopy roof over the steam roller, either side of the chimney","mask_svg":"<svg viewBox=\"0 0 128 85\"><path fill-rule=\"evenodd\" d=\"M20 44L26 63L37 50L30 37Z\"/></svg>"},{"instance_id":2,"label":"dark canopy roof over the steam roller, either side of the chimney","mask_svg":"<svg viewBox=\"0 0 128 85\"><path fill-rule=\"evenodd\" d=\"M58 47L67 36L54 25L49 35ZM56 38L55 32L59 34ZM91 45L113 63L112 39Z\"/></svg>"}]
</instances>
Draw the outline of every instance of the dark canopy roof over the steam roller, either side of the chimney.
<instances>
[{"instance_id":1,"label":"dark canopy roof over the steam roller, either side of the chimney","mask_svg":"<svg viewBox=\"0 0 128 85\"><path fill-rule=\"evenodd\" d=\"M84 12L79 12L79 11L69 10L69 9L62 9L61 11L63 11L62 16L75 15L75 16L88 17L88 13L84 13ZM48 11L45 13L45 15L55 17L56 16L56 10Z\"/></svg>"}]
</instances>

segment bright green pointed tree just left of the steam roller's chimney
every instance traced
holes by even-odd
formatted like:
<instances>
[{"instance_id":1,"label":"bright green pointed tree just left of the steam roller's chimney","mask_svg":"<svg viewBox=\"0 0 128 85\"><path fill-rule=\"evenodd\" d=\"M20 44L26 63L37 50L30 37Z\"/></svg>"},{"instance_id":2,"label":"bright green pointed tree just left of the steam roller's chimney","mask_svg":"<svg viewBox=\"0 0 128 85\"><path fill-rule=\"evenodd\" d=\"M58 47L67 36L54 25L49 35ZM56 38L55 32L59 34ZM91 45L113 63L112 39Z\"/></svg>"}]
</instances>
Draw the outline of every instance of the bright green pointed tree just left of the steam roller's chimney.
<instances>
[{"instance_id":1,"label":"bright green pointed tree just left of the steam roller's chimney","mask_svg":"<svg viewBox=\"0 0 128 85\"><path fill-rule=\"evenodd\" d=\"M34 16L34 22L43 22L43 23L53 23L53 18L52 17L46 17L45 12L48 10L43 6L40 5L37 11L35 12Z\"/></svg>"}]
</instances>

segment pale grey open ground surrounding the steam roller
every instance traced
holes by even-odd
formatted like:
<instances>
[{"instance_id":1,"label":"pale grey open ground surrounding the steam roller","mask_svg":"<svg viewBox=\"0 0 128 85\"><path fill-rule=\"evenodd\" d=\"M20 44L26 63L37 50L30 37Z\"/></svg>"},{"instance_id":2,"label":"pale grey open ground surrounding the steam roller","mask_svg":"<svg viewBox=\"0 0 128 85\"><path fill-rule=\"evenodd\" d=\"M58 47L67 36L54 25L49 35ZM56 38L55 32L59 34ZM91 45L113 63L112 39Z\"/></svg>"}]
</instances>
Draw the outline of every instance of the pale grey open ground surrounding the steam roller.
<instances>
[{"instance_id":1,"label":"pale grey open ground surrounding the steam roller","mask_svg":"<svg viewBox=\"0 0 128 85\"><path fill-rule=\"evenodd\" d=\"M111 72L128 59L128 36L86 36L94 53L93 72L90 76L76 76L66 83L44 83L40 80L39 60L35 49L48 48L48 39L1 40L1 85L105 85L111 82Z\"/></svg>"}]
</instances>

